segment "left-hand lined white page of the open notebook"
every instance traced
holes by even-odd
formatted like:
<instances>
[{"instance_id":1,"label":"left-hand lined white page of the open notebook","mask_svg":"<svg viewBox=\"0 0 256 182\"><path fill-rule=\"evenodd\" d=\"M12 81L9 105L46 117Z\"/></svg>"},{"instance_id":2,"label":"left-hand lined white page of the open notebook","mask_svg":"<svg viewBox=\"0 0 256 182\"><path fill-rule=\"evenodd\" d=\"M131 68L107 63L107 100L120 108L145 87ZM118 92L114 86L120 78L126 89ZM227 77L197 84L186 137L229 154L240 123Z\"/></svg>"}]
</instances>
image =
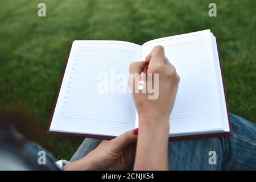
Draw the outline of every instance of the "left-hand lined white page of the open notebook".
<instances>
[{"instance_id":1,"label":"left-hand lined white page of the open notebook","mask_svg":"<svg viewBox=\"0 0 256 182\"><path fill-rule=\"evenodd\" d=\"M115 86L118 75L128 78L129 64L140 59L137 44L73 42L50 131L117 136L134 128L131 94L118 92ZM104 92L100 84L107 88Z\"/></svg>"}]
</instances>

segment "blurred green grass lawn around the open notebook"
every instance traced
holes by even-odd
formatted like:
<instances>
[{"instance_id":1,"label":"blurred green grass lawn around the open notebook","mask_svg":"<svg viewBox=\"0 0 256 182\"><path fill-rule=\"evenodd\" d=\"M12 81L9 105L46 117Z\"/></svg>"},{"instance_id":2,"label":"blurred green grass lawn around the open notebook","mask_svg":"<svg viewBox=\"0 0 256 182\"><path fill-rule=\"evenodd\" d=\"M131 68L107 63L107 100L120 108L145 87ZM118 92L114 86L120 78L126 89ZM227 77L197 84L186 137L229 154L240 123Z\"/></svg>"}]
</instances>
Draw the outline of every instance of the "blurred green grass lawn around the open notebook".
<instances>
[{"instance_id":1,"label":"blurred green grass lawn around the open notebook","mask_svg":"<svg viewBox=\"0 0 256 182\"><path fill-rule=\"evenodd\" d=\"M45 2L47 17L37 15ZM256 1L3 1L0 7L0 107L23 110L47 129L72 40L147 40L210 28L218 37L229 109L255 123ZM38 140L69 159L82 138Z\"/></svg>"}]
</instances>

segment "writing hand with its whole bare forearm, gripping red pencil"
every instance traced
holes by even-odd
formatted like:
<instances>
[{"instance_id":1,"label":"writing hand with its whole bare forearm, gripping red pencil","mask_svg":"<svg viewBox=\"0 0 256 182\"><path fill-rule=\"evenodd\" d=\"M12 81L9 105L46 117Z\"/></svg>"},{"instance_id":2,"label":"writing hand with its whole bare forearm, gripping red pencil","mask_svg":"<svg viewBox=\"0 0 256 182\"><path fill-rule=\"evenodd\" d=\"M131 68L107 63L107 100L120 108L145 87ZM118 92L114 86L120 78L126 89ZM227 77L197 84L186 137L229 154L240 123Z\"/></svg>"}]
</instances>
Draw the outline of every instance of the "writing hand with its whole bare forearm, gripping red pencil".
<instances>
[{"instance_id":1,"label":"writing hand with its whole bare forearm, gripping red pencil","mask_svg":"<svg viewBox=\"0 0 256 182\"><path fill-rule=\"evenodd\" d=\"M148 99L148 92L134 93L133 99L138 111L139 134L134 169L135 170L167 170L168 169L168 138L169 118L174 107L178 84L180 81L175 68L164 56L164 48L156 46L150 55L146 57L148 63L147 74L155 73L159 79L154 82L158 84L158 97L155 100ZM143 62L130 64L130 73L141 74ZM147 84L151 79L147 78ZM138 85L134 77L130 77L130 86ZM147 85L146 84L146 85ZM133 88L131 88L133 89Z\"/></svg>"}]
</instances>

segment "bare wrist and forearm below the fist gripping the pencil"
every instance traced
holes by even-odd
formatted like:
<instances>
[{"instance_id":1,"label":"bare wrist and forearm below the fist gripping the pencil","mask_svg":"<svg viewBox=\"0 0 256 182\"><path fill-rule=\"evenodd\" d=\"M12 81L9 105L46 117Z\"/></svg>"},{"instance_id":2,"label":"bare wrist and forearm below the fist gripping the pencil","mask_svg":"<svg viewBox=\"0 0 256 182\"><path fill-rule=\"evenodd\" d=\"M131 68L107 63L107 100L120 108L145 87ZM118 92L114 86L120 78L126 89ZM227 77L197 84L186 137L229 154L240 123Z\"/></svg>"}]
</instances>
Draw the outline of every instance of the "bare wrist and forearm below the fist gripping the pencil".
<instances>
[{"instance_id":1,"label":"bare wrist and forearm below the fist gripping the pencil","mask_svg":"<svg viewBox=\"0 0 256 182\"><path fill-rule=\"evenodd\" d=\"M135 170L168 169L169 128L168 117L153 119L139 116Z\"/></svg>"}]
</instances>

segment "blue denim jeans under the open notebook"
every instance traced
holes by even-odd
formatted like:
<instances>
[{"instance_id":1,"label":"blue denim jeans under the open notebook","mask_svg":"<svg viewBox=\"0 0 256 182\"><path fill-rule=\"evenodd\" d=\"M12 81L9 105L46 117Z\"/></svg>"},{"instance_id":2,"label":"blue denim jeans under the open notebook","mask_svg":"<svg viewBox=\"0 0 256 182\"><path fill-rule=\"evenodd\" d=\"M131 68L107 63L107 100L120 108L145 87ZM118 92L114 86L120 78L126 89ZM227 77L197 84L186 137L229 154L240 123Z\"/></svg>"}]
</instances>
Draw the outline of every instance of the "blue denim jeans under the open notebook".
<instances>
[{"instance_id":1,"label":"blue denim jeans under the open notebook","mask_svg":"<svg viewBox=\"0 0 256 182\"><path fill-rule=\"evenodd\" d=\"M170 170L256 170L256 125L235 114L230 118L232 137L169 142ZM85 138L70 162L81 159L100 142Z\"/></svg>"}]
</instances>

